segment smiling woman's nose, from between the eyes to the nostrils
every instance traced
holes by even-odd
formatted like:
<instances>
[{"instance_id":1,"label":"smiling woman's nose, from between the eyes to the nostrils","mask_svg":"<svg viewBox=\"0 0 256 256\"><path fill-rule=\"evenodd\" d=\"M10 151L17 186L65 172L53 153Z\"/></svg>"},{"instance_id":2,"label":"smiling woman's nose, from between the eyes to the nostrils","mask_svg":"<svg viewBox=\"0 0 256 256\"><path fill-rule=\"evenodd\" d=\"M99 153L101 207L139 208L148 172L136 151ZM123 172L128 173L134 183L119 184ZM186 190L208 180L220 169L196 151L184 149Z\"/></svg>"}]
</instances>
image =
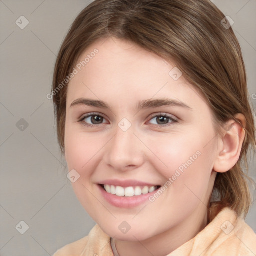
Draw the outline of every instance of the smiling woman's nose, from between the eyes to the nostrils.
<instances>
[{"instance_id":1,"label":"smiling woman's nose, from between the eyes to the nostrils","mask_svg":"<svg viewBox=\"0 0 256 256\"><path fill-rule=\"evenodd\" d=\"M114 136L107 143L104 152L104 161L108 167L118 171L126 171L138 168L144 162L145 146L135 135L131 126L123 131L118 125L114 130Z\"/></svg>"}]
</instances>

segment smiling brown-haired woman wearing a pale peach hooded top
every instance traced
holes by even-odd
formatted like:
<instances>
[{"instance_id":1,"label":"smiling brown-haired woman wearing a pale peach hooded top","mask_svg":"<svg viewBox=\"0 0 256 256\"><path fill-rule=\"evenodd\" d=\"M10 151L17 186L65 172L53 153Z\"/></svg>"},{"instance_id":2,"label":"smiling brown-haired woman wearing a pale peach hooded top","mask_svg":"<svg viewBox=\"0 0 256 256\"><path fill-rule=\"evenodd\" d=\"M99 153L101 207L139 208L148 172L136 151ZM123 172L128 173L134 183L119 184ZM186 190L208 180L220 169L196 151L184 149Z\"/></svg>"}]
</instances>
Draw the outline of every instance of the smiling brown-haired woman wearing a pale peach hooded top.
<instances>
[{"instance_id":1,"label":"smiling brown-haired woman wearing a pale peach hooded top","mask_svg":"<svg viewBox=\"0 0 256 256\"><path fill-rule=\"evenodd\" d=\"M58 140L97 225L54 255L255 255L255 127L230 19L208 0L96 0L56 60Z\"/></svg>"}]
</instances>

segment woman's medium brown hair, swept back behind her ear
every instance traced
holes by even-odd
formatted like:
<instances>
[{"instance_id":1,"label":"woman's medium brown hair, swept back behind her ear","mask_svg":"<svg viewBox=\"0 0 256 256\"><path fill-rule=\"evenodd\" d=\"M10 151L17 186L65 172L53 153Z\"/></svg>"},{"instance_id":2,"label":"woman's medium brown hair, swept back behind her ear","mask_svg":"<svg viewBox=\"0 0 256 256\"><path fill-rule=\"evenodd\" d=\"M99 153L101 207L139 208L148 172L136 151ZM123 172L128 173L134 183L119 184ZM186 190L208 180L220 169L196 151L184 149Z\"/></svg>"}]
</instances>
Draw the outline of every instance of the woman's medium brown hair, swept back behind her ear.
<instances>
[{"instance_id":1,"label":"woman's medium brown hair, swept back behind her ear","mask_svg":"<svg viewBox=\"0 0 256 256\"><path fill-rule=\"evenodd\" d=\"M174 60L186 80L204 96L219 127L230 119L242 125L234 116L245 116L239 160L229 171L217 173L208 217L211 220L225 206L246 215L251 205L246 154L250 145L255 147L255 127L241 48L232 28L221 24L224 18L209 0L95 0L89 4L70 27L54 69L52 95L62 153L67 86L59 89L59 84L97 39L128 40L167 61Z\"/></svg>"}]
</instances>

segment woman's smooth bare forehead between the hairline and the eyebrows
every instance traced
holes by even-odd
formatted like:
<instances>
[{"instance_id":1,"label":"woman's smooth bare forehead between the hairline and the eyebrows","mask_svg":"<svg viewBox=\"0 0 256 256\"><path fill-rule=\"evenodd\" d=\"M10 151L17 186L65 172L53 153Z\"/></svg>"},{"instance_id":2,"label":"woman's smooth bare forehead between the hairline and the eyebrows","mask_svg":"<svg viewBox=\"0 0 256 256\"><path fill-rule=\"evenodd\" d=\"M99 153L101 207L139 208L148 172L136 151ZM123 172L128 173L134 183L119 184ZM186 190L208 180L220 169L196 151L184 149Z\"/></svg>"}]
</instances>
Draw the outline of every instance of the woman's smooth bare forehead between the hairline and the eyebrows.
<instances>
[{"instance_id":1,"label":"woman's smooth bare forehead between the hairline and the eyebrows","mask_svg":"<svg viewBox=\"0 0 256 256\"><path fill-rule=\"evenodd\" d=\"M115 101L117 97L127 101L157 96L182 98L188 103L198 102L195 97L202 99L182 73L178 73L174 62L113 37L101 38L87 47L75 68L77 74L68 84L68 103L85 95L107 101L112 100L113 94ZM180 78L173 79L172 70Z\"/></svg>"}]
</instances>

